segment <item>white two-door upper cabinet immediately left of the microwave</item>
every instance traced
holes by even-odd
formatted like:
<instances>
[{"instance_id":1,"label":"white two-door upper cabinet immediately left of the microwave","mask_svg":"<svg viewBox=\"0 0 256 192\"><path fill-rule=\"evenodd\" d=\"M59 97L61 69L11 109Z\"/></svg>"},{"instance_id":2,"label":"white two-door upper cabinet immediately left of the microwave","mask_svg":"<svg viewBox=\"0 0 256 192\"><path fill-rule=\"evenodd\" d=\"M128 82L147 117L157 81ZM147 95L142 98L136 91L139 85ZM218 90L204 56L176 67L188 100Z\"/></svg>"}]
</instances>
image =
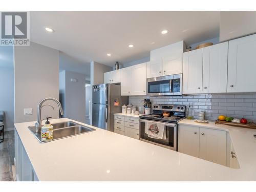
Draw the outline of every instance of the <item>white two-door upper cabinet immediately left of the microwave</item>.
<instances>
[{"instance_id":1,"label":"white two-door upper cabinet immediately left of the microwave","mask_svg":"<svg viewBox=\"0 0 256 192\"><path fill-rule=\"evenodd\" d=\"M146 62L122 69L121 95L146 95Z\"/></svg>"}]
</instances>

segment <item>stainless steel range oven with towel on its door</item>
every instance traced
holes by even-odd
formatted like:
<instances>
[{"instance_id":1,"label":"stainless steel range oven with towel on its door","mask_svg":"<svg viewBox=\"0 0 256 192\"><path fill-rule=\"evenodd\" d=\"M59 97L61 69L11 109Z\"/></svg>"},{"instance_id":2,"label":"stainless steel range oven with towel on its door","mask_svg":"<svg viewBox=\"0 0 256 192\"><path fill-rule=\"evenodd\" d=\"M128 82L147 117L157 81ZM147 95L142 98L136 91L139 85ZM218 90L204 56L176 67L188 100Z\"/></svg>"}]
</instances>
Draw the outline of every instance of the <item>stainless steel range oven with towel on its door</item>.
<instances>
[{"instance_id":1,"label":"stainless steel range oven with towel on its door","mask_svg":"<svg viewBox=\"0 0 256 192\"><path fill-rule=\"evenodd\" d=\"M148 143L156 144L162 147L169 148L170 150L178 150L178 122L185 118L185 105L176 104L153 104L152 106L153 114L140 116L140 131L139 139ZM168 117L164 117L163 112L167 112ZM161 122L164 123L164 133L165 137L154 138L148 136L148 130L150 127L146 126L146 121L151 122ZM147 129L145 131L145 129Z\"/></svg>"}]
</instances>

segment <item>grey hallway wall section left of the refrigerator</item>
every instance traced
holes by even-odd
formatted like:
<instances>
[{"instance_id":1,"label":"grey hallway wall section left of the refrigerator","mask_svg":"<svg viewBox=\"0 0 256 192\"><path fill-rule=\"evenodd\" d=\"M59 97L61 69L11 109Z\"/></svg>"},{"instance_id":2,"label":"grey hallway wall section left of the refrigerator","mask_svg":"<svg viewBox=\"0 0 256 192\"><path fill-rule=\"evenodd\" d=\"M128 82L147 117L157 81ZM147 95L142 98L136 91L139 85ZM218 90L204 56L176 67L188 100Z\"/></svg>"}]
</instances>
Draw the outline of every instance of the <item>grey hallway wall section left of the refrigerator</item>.
<instances>
[{"instance_id":1,"label":"grey hallway wall section left of the refrigerator","mask_svg":"<svg viewBox=\"0 0 256 192\"><path fill-rule=\"evenodd\" d=\"M71 82L71 78L76 79L77 82ZM85 122L86 75L71 71L60 72L60 93L63 93L61 103L64 105L64 116Z\"/></svg>"}]
</instances>

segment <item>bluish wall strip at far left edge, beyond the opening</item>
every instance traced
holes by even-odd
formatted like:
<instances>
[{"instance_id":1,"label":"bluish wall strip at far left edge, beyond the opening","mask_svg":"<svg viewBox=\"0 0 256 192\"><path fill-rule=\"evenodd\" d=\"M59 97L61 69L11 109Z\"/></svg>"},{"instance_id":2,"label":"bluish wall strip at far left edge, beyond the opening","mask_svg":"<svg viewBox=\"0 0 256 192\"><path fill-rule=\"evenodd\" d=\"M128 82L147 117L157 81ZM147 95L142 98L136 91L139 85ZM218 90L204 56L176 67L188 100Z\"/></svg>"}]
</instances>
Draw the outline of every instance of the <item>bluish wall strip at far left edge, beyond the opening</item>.
<instances>
[{"instance_id":1,"label":"bluish wall strip at far left edge, beyond the opening","mask_svg":"<svg viewBox=\"0 0 256 192\"><path fill-rule=\"evenodd\" d=\"M0 47L0 111L5 112L5 131L14 127L13 78L13 47Z\"/></svg>"}]
</instances>

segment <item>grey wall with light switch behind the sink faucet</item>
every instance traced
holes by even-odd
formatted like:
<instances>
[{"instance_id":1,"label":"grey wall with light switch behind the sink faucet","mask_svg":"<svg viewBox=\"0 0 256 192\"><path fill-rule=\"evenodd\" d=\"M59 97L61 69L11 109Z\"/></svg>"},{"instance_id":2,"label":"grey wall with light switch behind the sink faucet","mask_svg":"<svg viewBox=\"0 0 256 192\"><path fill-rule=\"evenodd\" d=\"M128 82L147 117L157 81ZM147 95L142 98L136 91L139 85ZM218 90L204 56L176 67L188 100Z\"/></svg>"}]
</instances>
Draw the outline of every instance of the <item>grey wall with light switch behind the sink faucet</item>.
<instances>
[{"instance_id":1,"label":"grey wall with light switch behind the sink faucet","mask_svg":"<svg viewBox=\"0 0 256 192\"><path fill-rule=\"evenodd\" d=\"M15 123L36 121L37 105L46 97L59 99L59 51L30 42L28 47L14 48ZM41 117L58 118L53 101L42 110ZM46 104L45 103L45 104ZM32 108L32 115L24 115L24 108Z\"/></svg>"}]
</instances>

